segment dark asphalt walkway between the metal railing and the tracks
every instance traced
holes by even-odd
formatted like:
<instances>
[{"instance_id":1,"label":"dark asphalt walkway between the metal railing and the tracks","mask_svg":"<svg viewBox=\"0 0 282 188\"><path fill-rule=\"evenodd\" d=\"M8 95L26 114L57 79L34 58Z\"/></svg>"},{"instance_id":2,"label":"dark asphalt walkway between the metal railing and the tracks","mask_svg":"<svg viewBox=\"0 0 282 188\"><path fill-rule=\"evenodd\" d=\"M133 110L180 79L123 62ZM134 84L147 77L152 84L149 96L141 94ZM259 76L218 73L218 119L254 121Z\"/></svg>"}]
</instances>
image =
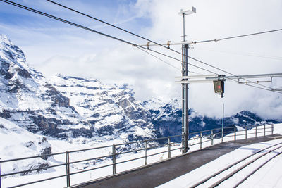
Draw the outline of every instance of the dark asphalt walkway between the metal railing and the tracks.
<instances>
[{"instance_id":1,"label":"dark asphalt walkway between the metal railing and the tracks","mask_svg":"<svg viewBox=\"0 0 282 188\"><path fill-rule=\"evenodd\" d=\"M241 146L278 138L282 138L281 135L269 135L266 137L258 137L257 139L251 138L247 140L242 139L232 142L223 142L202 150L193 151L182 156L147 165L136 170L127 171L92 182L85 182L74 187L157 187L180 175L189 173L206 163L214 161L216 158L238 149Z\"/></svg>"}]
</instances>

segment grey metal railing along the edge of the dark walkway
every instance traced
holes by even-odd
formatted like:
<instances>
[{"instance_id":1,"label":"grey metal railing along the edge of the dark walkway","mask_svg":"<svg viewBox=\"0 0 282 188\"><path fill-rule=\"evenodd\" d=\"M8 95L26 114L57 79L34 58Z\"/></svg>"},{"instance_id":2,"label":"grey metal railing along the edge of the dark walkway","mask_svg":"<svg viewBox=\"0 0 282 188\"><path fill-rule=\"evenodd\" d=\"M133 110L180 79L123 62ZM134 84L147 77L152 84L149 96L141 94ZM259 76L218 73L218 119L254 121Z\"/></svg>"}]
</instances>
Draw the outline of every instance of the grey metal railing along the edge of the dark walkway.
<instances>
[{"instance_id":1,"label":"grey metal railing along the edge of the dark walkway","mask_svg":"<svg viewBox=\"0 0 282 188\"><path fill-rule=\"evenodd\" d=\"M243 136L245 137L245 139L247 139L247 135L250 134L255 134L255 138L258 137L259 134L263 134L263 136L266 136L266 134L268 132L271 132L271 134L274 134L274 125L273 124L269 124L269 125L259 125L259 126L255 126L255 132L252 129L252 132L250 132L251 128L254 127L245 127L245 130L238 130L239 127L223 127L223 132L221 132L221 128L217 128L217 129L213 129L213 130L204 130L204 131L199 131L199 132L192 132L190 133L188 142L190 143L189 146L195 146L195 145L200 145L200 149L203 148L203 144L206 142L211 142L210 145L214 145L214 139L221 139L221 142L223 142L223 138L226 139L228 137L233 137L233 140L238 139L238 137ZM243 132L243 134L242 134ZM233 133L233 135L231 135ZM25 185L29 185L29 184L35 184L35 183L39 183L39 182L44 182L44 181L48 181L48 180L54 180L54 179L58 179L61 177L66 177L66 186L70 187L71 186L71 175L76 175L79 173L86 173L88 171L92 171L92 170L97 170L97 169L101 169L101 168L106 168L109 166L112 166L112 175L116 174L116 165L121 164L121 163L128 163L130 161L135 161L138 159L142 159L144 158L144 165L148 165L148 158L152 157L152 156L157 156L159 154L164 154L167 153L167 158L171 158L171 152L172 151L176 151L176 150L183 150L182 148L182 140L181 138L183 137L183 135L175 135L175 136L171 136L171 137L161 137L161 138L157 138L157 139L146 139L146 140L140 140L140 141L135 141L135 142L127 142L127 143L123 143L123 144L114 144L114 145L109 145L109 146L100 146L100 147L94 147L94 148L90 148L90 149L80 149L80 150L75 150L75 151L66 151L66 152L61 152L61 153L51 153L51 154L47 154L47 155L41 155L41 156L30 156L30 157L24 157L24 158L14 158L14 159L8 159L8 160L3 160L0 161L0 188L1 188L1 180L3 178L6 177L11 177L11 176L15 176L15 175L27 175L28 173L32 173L32 172L39 172L41 170L47 170L50 168L58 168L58 167L62 167L65 166L66 167L66 173L63 175L56 175L54 177L48 177L48 178L44 178L42 180L36 180L36 181L32 181L32 182L26 182L23 184L17 184L15 186L12 187L22 187ZM176 140L175 142L171 142L171 140L174 139ZM203 140L205 139L205 140ZM164 143L164 144L161 144ZM192 142L192 143L191 143ZM151 143L151 144L150 144ZM137 147L135 146L137 145ZM210 146L209 145L209 146ZM121 146L131 146L130 149L126 149L123 151L121 150L120 152L118 152L118 149L122 149ZM157 151L154 149L165 149L164 151ZM70 154L71 153L79 153L79 152L85 152L85 151L93 151L93 150L97 150L97 149L111 149L111 153L109 155L104 155L104 156L97 156L94 158L83 158L82 160L79 161L71 161L70 158ZM151 154L148 154L148 151L152 151ZM154 152L155 151L155 152ZM121 156L124 155L126 153L142 153L144 152L144 156L139 156L139 157L135 157L135 158L130 158L129 160L125 160L125 161L119 161L117 162L116 159ZM3 173L3 169L2 169L2 173L1 173L1 165L3 166L4 163L13 163L15 161L26 161L28 159L32 159L32 158L50 158L50 157L54 157L54 156L65 156L65 162L57 164L57 165L48 165L45 167L41 167L41 168L32 168L29 170L19 170L13 173ZM180 154L178 154L177 156L180 156ZM133 155L134 156L134 155ZM111 163L106 164L106 165L99 165L95 168L88 168L88 169L82 169L82 170L78 170L76 172L71 172L71 165L75 165L77 163L83 163L83 162L94 162L97 160L102 160L102 159L106 159L106 160L111 160ZM139 167L141 167L143 165L140 165ZM121 171L122 172L122 171ZM97 178L94 178L97 179Z\"/></svg>"}]
</instances>

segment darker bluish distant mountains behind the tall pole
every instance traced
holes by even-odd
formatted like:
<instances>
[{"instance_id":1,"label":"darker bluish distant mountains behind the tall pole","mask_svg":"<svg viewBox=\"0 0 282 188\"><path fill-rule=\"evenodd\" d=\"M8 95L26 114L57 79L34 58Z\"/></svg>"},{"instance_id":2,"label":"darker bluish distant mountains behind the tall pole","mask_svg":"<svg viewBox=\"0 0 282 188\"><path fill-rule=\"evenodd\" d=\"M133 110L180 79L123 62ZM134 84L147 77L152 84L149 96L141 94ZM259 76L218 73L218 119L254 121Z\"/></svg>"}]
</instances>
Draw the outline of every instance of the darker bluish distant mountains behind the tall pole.
<instances>
[{"instance_id":1,"label":"darker bluish distant mountains behind the tall pole","mask_svg":"<svg viewBox=\"0 0 282 188\"><path fill-rule=\"evenodd\" d=\"M182 109L178 101L163 103L157 99L144 101L142 105L152 113L152 124L154 129L158 130L161 137L178 135L182 132ZM266 123L281 123L282 120L264 120L250 111L241 111L235 115L224 118L225 127L253 127ZM200 115L189 109L189 132L199 132L221 128L222 118L214 118ZM220 130L219 130L220 131Z\"/></svg>"}]
</instances>

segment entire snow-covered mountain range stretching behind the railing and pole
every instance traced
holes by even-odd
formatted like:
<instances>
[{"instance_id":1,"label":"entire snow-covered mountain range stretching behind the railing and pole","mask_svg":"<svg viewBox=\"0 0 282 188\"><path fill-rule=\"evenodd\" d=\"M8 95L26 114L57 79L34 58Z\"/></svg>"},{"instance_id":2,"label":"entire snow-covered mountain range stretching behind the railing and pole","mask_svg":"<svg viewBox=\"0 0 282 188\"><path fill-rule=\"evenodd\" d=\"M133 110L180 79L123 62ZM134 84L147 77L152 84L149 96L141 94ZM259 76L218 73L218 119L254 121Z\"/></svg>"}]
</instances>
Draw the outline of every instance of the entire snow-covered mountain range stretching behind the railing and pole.
<instances>
[{"instance_id":1,"label":"entire snow-covered mountain range stretching behind the railing and pole","mask_svg":"<svg viewBox=\"0 0 282 188\"><path fill-rule=\"evenodd\" d=\"M136 101L133 89L99 80L56 75L47 80L30 68L23 51L0 35L0 117L30 132L55 139L116 138L128 142L181 133L177 100ZM221 119L190 109L190 132L221 126ZM226 125L265 123L243 111L226 118Z\"/></svg>"}]
</instances>

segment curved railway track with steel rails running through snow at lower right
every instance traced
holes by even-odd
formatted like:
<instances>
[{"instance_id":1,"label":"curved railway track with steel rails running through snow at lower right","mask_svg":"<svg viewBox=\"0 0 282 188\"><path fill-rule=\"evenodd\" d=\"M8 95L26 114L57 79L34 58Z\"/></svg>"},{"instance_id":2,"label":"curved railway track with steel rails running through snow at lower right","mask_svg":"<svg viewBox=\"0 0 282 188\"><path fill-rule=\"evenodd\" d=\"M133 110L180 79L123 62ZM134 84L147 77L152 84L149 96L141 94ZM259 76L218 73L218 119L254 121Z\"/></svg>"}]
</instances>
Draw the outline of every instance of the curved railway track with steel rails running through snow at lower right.
<instances>
[{"instance_id":1,"label":"curved railway track with steel rails running through snow at lower right","mask_svg":"<svg viewBox=\"0 0 282 188\"><path fill-rule=\"evenodd\" d=\"M262 166L281 154L282 142L256 151L190 187L218 187L221 185L223 187L238 187ZM234 175L240 176L240 180Z\"/></svg>"}]
</instances>

